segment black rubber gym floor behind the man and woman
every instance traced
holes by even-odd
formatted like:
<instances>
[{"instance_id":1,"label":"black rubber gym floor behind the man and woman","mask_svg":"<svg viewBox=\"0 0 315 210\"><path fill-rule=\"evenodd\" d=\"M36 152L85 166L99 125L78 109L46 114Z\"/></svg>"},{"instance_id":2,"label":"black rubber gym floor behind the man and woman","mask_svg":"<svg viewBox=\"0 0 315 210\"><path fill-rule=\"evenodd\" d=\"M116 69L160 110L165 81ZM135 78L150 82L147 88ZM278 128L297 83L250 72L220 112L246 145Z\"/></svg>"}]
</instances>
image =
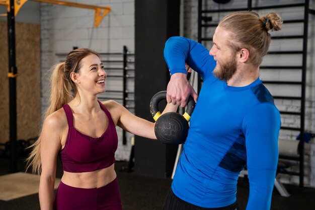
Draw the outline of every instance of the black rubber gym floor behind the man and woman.
<instances>
[{"instance_id":1,"label":"black rubber gym floor behind the man and woman","mask_svg":"<svg viewBox=\"0 0 315 210\"><path fill-rule=\"evenodd\" d=\"M171 186L170 178L155 178L127 173L123 170L126 162L116 162L116 173L124 210L161 210L164 197ZM0 158L0 175L8 174L9 160ZM18 170L24 170L24 164L18 164ZM58 167L57 177L62 171ZM308 210L315 209L315 188L299 188L295 185L285 185L290 197L282 197L275 188L272 194L272 210ZM0 189L1 193L2 189ZM248 183L240 178L238 185L238 201L243 210L249 195ZM11 201L0 200L1 210L33 210L40 209L38 194L18 198ZM184 210L184 209L183 209ZM251 209L256 210L256 209Z\"/></svg>"}]
</instances>

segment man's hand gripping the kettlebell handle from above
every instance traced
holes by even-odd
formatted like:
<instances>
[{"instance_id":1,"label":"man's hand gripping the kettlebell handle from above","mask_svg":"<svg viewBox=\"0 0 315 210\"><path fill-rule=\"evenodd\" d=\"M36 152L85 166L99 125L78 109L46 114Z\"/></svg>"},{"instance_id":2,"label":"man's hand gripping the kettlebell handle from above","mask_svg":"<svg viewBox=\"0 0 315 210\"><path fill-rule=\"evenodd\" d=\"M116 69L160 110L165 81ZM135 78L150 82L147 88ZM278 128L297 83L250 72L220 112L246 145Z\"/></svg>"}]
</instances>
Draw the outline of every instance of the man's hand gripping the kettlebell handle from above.
<instances>
[{"instance_id":1,"label":"man's hand gripping the kettlebell handle from above","mask_svg":"<svg viewBox=\"0 0 315 210\"><path fill-rule=\"evenodd\" d=\"M186 75L183 73L172 75L167 87L167 102L185 107L190 95L197 102L198 95L188 82Z\"/></svg>"}]
</instances>

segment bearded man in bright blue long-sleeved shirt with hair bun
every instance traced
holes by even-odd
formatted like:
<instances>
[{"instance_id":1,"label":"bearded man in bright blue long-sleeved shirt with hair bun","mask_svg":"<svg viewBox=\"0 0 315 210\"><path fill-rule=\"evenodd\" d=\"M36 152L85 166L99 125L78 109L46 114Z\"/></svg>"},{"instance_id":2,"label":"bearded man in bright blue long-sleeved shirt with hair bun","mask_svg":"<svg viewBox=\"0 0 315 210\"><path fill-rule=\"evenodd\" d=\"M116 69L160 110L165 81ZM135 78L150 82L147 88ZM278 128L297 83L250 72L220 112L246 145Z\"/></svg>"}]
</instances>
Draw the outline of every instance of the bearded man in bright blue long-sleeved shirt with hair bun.
<instances>
[{"instance_id":1,"label":"bearded man in bright blue long-sleeved shirt with hair bun","mask_svg":"<svg viewBox=\"0 0 315 210\"><path fill-rule=\"evenodd\" d=\"M164 210L239 210L237 181L245 166L246 209L270 209L281 122L259 65L269 48L268 31L281 24L275 13L237 12L220 21L210 51L184 37L166 42L168 103L184 107L189 95L198 101ZM199 96L186 79L185 63L203 78Z\"/></svg>"}]
</instances>

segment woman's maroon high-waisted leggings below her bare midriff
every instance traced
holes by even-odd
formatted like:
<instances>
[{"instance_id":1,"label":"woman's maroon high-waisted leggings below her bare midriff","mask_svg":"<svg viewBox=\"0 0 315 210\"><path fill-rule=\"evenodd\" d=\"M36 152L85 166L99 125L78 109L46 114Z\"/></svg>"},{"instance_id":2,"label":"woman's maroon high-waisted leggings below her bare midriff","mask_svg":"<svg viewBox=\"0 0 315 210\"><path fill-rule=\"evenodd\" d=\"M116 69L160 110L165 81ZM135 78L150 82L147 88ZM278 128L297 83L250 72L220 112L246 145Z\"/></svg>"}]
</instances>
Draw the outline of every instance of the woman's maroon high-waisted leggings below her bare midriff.
<instances>
[{"instance_id":1,"label":"woman's maroon high-waisted leggings below her bare midriff","mask_svg":"<svg viewBox=\"0 0 315 210\"><path fill-rule=\"evenodd\" d=\"M117 177L103 187L92 189L71 187L60 182L53 209L122 210Z\"/></svg>"}]
</instances>

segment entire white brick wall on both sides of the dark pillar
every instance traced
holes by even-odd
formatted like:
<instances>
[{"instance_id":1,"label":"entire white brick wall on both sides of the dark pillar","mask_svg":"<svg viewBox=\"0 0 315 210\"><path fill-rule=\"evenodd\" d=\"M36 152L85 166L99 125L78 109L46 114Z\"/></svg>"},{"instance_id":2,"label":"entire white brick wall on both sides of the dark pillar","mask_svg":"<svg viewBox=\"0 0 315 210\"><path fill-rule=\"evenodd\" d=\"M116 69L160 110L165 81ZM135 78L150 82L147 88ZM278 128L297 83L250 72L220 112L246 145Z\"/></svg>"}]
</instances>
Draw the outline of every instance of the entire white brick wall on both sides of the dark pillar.
<instances>
[{"instance_id":1,"label":"entire white brick wall on both sides of the dark pillar","mask_svg":"<svg viewBox=\"0 0 315 210\"><path fill-rule=\"evenodd\" d=\"M130 51L134 51L134 0L68 0L70 2L111 6L112 11L101 22L98 28L93 27L94 11L79 8L70 8L56 5L49 5L41 3L40 7L40 22L41 22L41 103L42 113L47 107L47 96L45 93L48 90L48 75L47 71L53 64L59 60L55 56L56 53L66 53L72 49L73 46L89 47L98 52L121 52L122 46L126 45ZM278 0L278 4L299 3L302 0ZM313 1L311 7L314 8ZM197 40L197 26L198 26L198 1L182 0L182 35L194 40ZM262 5L275 4L273 0L253 0L253 7ZM226 7L246 7L247 0L232 0L226 5L219 5L213 1L204 3L208 9L218 9ZM261 15L268 11L258 11ZM303 14L302 9L282 9L277 10L283 18L296 19ZM220 20L225 14L213 15L213 20ZM307 88L306 88L306 105L305 105L305 130L308 132L315 132L315 73L314 73L314 48L315 42L312 37L315 37L314 15L309 15L309 41L308 41L308 56L307 56ZM283 29L277 35L293 35L300 34L303 28L301 24L284 25ZM211 36L214 29L208 29L207 34ZM206 47L210 48L211 43ZM302 41L300 39L289 40L272 40L270 50L301 50ZM284 60L289 65L301 63L301 57L297 56L279 56L277 59ZM277 64L277 60L267 55L263 61L268 64ZM283 80L283 81L300 81L300 71L286 70L276 71L275 69L264 69L261 71L260 77L262 80ZM119 86L119 84L113 84ZM128 84L133 86L133 84ZM274 95L299 95L300 88L298 86L292 88L291 86L276 85L267 86ZM130 88L128 88L130 89ZM283 111L299 111L300 102L294 100L276 100L276 106ZM282 124L284 126L298 126L299 118L294 116L281 116ZM119 139L121 139L122 131L118 128ZM281 130L281 139L295 139L298 131ZM130 138L132 135L127 133L127 145L123 146L119 142L119 147L116 152L117 160L128 160L130 155ZM121 141L121 140L120 140ZM315 187L315 143L312 139L308 157L305 157L305 185ZM286 183L298 183L298 177L283 176L282 181Z\"/></svg>"}]
</instances>

